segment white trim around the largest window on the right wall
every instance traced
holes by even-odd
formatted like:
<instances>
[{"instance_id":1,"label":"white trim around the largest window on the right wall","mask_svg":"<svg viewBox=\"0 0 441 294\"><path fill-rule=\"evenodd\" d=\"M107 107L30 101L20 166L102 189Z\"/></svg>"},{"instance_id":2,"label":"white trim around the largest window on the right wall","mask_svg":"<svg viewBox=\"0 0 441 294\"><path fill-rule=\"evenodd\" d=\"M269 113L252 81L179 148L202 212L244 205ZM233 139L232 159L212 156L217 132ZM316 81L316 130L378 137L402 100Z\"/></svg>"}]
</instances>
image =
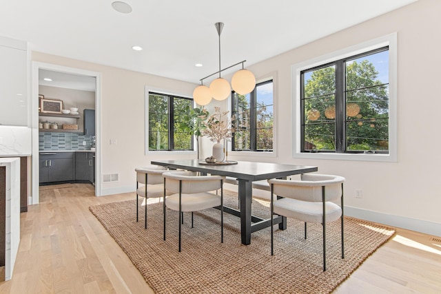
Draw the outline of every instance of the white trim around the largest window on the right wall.
<instances>
[{"instance_id":1,"label":"white trim around the largest window on the right wall","mask_svg":"<svg viewBox=\"0 0 441 294\"><path fill-rule=\"evenodd\" d=\"M300 116L300 72L311 67L331 63L338 59L389 46L389 154L340 154L301 152L301 116ZM354 160L354 161L397 161L397 33L388 34L378 39L353 45L324 56L292 65L292 101L293 103L293 158Z\"/></svg>"}]
</instances>

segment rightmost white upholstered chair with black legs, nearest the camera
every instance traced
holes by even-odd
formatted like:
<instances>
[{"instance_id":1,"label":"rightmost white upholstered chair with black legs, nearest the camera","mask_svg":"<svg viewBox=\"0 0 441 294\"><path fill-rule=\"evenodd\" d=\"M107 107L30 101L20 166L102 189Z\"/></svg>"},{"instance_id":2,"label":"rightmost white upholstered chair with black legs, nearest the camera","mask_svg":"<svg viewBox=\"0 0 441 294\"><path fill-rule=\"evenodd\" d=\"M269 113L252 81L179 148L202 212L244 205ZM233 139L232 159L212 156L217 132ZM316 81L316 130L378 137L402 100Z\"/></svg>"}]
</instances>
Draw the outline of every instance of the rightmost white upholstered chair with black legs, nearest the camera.
<instances>
[{"instance_id":1,"label":"rightmost white upholstered chair with black legs, nearest the camera","mask_svg":"<svg viewBox=\"0 0 441 294\"><path fill-rule=\"evenodd\" d=\"M302 174L301 180L268 180L271 186L271 216L276 213L287 218L316 222L323 227L323 271L326 271L326 223L340 218L342 258L345 258L343 233L343 182L341 176ZM275 200L274 195L283 197ZM340 205L334 201L340 200ZM274 254L273 218L271 218L271 255Z\"/></svg>"}]
</instances>

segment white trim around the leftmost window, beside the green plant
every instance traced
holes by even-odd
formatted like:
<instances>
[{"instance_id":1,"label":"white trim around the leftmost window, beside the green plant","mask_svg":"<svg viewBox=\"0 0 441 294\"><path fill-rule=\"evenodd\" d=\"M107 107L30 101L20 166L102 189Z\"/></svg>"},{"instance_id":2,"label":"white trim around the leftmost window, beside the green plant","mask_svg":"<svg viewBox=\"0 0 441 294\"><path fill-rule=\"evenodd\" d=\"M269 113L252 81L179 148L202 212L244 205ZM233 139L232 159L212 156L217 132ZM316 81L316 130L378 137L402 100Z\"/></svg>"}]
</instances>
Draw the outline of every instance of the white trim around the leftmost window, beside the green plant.
<instances>
[{"instance_id":1,"label":"white trim around the leftmost window, beside the green plant","mask_svg":"<svg viewBox=\"0 0 441 294\"><path fill-rule=\"evenodd\" d=\"M155 93L161 93L161 94L165 94L165 95L171 95L171 96L178 96L178 97L184 97L184 98L192 98L188 95L183 95L183 94L178 94L178 93L174 93L174 92L170 92L170 90L163 90L163 89L158 89L155 87L150 87L150 86L145 86L145 98L144 98L144 109L145 109L145 120L144 120L144 136L145 136L145 140L144 140L144 154L147 155L159 155L159 154L189 154L189 155L196 155L197 154L197 143L196 143L196 138L194 138L193 136L193 146L194 146L194 150L158 150L158 151L154 151L154 150L149 150L149 136L147 135L148 129L149 129L149 93L150 92L155 92ZM194 101L193 101L193 105L192 107L194 107Z\"/></svg>"}]
</instances>

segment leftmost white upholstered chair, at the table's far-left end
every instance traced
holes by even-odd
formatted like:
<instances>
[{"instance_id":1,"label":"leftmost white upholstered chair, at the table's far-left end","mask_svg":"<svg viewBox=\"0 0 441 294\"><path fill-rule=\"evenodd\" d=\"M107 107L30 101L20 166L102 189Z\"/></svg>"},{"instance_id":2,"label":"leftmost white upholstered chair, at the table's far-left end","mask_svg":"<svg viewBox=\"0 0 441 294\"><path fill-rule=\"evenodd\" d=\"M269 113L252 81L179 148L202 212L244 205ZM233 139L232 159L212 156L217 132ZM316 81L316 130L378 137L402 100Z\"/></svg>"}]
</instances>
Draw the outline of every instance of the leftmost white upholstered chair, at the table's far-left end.
<instances>
[{"instance_id":1,"label":"leftmost white upholstered chair, at the table's far-left end","mask_svg":"<svg viewBox=\"0 0 441 294\"><path fill-rule=\"evenodd\" d=\"M145 200L145 224L147 229L147 199L160 198L164 196L164 177L167 171L165 167L150 165L148 167L137 167L136 171L136 222L139 219L139 196ZM147 183L147 185L146 185Z\"/></svg>"}]
</instances>

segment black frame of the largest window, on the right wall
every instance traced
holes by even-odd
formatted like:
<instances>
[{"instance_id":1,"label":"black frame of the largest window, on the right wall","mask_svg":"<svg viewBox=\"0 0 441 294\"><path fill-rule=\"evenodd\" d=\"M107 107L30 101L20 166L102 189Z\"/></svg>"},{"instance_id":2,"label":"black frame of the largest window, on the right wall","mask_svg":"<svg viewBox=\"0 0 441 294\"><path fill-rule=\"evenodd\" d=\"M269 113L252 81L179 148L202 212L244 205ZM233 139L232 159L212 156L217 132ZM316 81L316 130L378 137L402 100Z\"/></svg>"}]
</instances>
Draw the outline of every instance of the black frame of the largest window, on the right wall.
<instances>
[{"instance_id":1,"label":"black frame of the largest window, on the right wall","mask_svg":"<svg viewBox=\"0 0 441 294\"><path fill-rule=\"evenodd\" d=\"M354 151L347 150L347 137L346 137L346 93L349 92L346 89L346 63L347 61L352 61L363 56L373 55L379 52L389 51L389 45L377 48L374 50L369 50L367 52L362 52L360 54L354 54L347 56L343 59L338 59L336 61L331 61L329 63L324 63L322 65L317 65L315 67L309 67L308 69L300 71L300 152L302 153L329 153L329 154L391 154L391 150L388 148L387 151L376 150L376 151ZM390 61L389 61L390 62ZM336 102L336 130L335 130L335 150L306 150L305 149L305 72L311 72L314 70L320 70L321 68L335 66L335 78L336 78L336 90L335 90L335 102ZM389 83L382 85L390 85ZM378 86L378 85L376 85ZM360 90L360 89L358 89ZM351 90L352 91L352 90ZM389 96L390 103L390 96ZM390 104L389 104L390 107ZM387 116L388 125L390 127L390 114ZM389 131L390 136L390 131Z\"/></svg>"}]
</instances>

